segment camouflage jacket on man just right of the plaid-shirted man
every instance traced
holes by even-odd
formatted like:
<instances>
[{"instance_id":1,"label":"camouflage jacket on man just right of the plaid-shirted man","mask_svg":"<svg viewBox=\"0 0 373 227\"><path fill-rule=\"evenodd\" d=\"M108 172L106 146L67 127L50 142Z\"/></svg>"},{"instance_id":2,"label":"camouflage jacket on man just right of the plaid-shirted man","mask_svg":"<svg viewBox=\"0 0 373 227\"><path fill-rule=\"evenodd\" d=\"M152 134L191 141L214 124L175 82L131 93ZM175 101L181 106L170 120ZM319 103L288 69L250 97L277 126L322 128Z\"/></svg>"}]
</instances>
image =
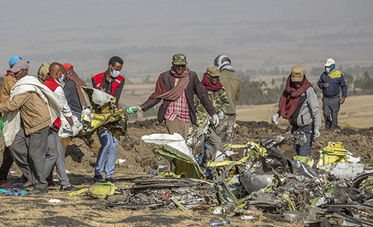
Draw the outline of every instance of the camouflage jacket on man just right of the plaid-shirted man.
<instances>
[{"instance_id":1,"label":"camouflage jacket on man just right of the plaid-shirted man","mask_svg":"<svg viewBox=\"0 0 373 227\"><path fill-rule=\"evenodd\" d=\"M218 92L212 92L212 91L206 91L206 92L207 92L208 98L212 102L212 106L215 107L215 111L217 112L222 111L223 113L227 112L229 101L228 101L227 96L225 96L224 87L222 87L222 89L220 89L220 91ZM197 111L197 113L207 113L200 99L198 99L198 96L195 96L194 103L195 103L195 110Z\"/></svg>"}]
</instances>

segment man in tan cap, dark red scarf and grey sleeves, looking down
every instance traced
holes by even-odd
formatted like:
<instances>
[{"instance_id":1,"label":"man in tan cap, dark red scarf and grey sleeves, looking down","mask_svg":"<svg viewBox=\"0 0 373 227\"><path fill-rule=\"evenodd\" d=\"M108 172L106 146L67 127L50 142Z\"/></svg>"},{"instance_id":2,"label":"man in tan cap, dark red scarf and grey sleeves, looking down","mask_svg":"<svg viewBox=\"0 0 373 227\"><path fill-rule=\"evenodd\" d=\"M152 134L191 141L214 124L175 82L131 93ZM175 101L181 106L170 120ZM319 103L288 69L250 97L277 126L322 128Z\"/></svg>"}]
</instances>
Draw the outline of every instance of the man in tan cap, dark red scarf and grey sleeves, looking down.
<instances>
[{"instance_id":1,"label":"man in tan cap, dark red scarf and grey sleeves, looking down","mask_svg":"<svg viewBox=\"0 0 373 227\"><path fill-rule=\"evenodd\" d=\"M312 84L306 79L304 68L296 65L291 68L291 75L286 80L286 88L283 91L279 111L272 116L272 123L282 116L289 120L291 133L301 132L306 135L306 143L294 145L296 149L296 160L310 164L310 152L313 138L320 136L321 111L318 106L318 96Z\"/></svg>"}]
</instances>

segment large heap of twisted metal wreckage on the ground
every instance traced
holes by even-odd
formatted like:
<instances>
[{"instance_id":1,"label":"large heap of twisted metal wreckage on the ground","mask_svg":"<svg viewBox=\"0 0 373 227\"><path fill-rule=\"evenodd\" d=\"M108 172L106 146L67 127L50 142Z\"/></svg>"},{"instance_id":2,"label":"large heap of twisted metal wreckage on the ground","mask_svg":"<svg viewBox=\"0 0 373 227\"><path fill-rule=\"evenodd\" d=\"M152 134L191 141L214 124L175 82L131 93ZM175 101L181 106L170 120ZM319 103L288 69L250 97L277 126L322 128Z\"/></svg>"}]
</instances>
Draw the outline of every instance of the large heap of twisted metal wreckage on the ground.
<instances>
[{"instance_id":1,"label":"large heap of twisted metal wreckage on the ground","mask_svg":"<svg viewBox=\"0 0 373 227\"><path fill-rule=\"evenodd\" d=\"M131 187L109 184L114 189L101 197L108 199L108 206L126 209L178 207L237 216L265 212L297 223L373 226L373 165L359 163L341 143L330 143L320 151L318 170L281 153L281 144L306 140L302 134L290 133L259 144L229 145L227 150L244 149L243 157L237 161L212 157L213 161L202 165L197 150L205 133L205 126L191 128L193 137L186 143L178 133L144 136L146 143L163 145L157 152L173 160L173 172L134 179ZM94 189L88 192L97 195Z\"/></svg>"}]
</instances>

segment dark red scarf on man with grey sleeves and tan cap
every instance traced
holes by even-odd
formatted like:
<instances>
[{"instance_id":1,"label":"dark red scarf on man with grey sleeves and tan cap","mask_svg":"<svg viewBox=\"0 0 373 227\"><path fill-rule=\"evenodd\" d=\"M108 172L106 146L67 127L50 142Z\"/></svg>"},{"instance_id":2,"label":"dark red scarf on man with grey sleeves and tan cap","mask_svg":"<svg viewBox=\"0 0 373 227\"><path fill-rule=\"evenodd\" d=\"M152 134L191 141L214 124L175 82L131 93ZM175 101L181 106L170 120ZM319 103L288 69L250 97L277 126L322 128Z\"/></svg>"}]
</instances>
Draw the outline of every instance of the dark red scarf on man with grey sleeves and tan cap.
<instances>
[{"instance_id":1,"label":"dark red scarf on man with grey sleeves and tan cap","mask_svg":"<svg viewBox=\"0 0 373 227\"><path fill-rule=\"evenodd\" d=\"M304 75L303 82L301 84L301 87L293 88L290 87L291 83L291 75L288 76L288 79L286 80L286 88L283 91L281 95L281 99L279 102L279 109L281 111L281 116L284 119L290 119L293 115L294 111L296 111L296 108L299 104L299 99L301 99L301 95L307 91L308 88L312 87L312 84L308 82L306 79L306 75Z\"/></svg>"}]
</instances>

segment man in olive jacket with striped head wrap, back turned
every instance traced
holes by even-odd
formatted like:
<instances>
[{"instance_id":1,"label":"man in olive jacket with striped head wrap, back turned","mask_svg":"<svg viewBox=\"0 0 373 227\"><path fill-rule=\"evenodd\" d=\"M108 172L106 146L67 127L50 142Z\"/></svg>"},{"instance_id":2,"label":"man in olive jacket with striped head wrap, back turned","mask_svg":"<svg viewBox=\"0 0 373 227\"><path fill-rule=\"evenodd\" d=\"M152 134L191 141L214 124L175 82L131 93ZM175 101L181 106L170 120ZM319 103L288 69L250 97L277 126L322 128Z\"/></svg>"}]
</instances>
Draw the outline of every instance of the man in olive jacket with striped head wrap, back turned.
<instances>
[{"instance_id":1,"label":"man in olive jacket with striped head wrap, back turned","mask_svg":"<svg viewBox=\"0 0 373 227\"><path fill-rule=\"evenodd\" d=\"M234 124L236 123L236 105L241 96L241 79L234 73L231 60L227 55L219 55L214 65L220 70L220 82L225 87L229 101L228 110L218 129L222 144L232 144L234 140Z\"/></svg>"}]
</instances>

